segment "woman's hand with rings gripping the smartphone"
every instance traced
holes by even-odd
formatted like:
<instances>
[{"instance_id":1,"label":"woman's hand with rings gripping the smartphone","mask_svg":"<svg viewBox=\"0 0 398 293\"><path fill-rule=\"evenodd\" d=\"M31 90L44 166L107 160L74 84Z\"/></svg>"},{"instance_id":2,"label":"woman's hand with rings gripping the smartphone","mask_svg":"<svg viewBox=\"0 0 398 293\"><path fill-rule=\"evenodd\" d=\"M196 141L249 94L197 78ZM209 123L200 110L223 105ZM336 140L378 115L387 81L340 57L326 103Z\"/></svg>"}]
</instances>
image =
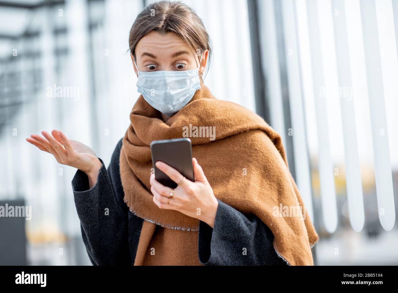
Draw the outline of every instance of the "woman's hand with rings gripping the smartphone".
<instances>
[{"instance_id":1,"label":"woman's hand with rings gripping the smartphone","mask_svg":"<svg viewBox=\"0 0 398 293\"><path fill-rule=\"evenodd\" d=\"M213 228L219 202L196 158L192 159L192 164L195 182L185 178L182 184L174 189L174 195L170 199L171 188L162 185L152 174L150 190L154 195L153 201L160 209L179 211L189 217L199 219ZM183 175L168 164L157 161L155 165L177 184L183 179Z\"/></svg>"}]
</instances>

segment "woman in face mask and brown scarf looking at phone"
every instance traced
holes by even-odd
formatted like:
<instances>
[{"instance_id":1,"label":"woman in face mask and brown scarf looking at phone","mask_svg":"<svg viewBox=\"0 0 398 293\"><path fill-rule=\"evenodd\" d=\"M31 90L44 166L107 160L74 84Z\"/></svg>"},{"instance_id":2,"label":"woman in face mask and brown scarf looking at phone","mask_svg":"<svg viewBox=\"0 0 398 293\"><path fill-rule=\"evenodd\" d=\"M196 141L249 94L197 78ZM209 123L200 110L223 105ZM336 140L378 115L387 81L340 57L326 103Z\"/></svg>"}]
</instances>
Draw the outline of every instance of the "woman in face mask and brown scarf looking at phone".
<instances>
[{"instance_id":1,"label":"woman in face mask and brown scarf looking at phone","mask_svg":"<svg viewBox=\"0 0 398 293\"><path fill-rule=\"evenodd\" d=\"M309 217L285 213L304 205L280 136L203 84L211 45L195 12L181 2L149 4L129 46L141 95L108 168L61 131L27 139L78 168L72 188L92 264L313 265L318 235ZM195 182L156 162L178 184L170 189L152 174L149 145L190 126L213 127L215 139L191 136Z\"/></svg>"}]
</instances>

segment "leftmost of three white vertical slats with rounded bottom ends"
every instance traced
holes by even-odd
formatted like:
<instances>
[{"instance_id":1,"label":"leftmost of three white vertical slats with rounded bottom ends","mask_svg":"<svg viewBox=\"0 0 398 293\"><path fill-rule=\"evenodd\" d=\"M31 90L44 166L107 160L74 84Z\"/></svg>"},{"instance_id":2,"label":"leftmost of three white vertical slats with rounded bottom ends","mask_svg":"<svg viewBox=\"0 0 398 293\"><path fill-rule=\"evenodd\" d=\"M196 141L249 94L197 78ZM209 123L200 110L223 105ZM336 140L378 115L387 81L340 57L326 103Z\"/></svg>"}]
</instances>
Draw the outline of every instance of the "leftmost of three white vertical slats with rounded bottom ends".
<instances>
[{"instance_id":1,"label":"leftmost of three white vertical slats with rounded bottom ends","mask_svg":"<svg viewBox=\"0 0 398 293\"><path fill-rule=\"evenodd\" d=\"M322 88L325 88L325 80L319 31L320 25L318 21L318 5L315 0L307 1L307 15L318 133L318 171L322 199L322 215L326 230L332 233L336 230L338 222L336 189L334 185L334 168L330 152L326 96L321 94Z\"/></svg>"}]
</instances>

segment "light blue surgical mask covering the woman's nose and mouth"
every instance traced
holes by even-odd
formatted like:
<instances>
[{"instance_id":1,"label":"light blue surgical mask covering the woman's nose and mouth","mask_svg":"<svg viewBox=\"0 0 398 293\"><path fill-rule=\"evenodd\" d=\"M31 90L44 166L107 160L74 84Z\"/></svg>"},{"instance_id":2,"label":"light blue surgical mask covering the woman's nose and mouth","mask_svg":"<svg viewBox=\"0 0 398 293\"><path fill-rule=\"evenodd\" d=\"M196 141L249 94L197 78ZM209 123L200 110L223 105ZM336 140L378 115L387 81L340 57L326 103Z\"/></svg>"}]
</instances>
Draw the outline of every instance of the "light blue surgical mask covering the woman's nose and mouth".
<instances>
[{"instance_id":1,"label":"light blue surgical mask covering the woman's nose and mouth","mask_svg":"<svg viewBox=\"0 0 398 293\"><path fill-rule=\"evenodd\" d=\"M137 63L135 66L138 70ZM148 104L172 116L201 88L199 67L185 71L138 71L137 88Z\"/></svg>"}]
</instances>

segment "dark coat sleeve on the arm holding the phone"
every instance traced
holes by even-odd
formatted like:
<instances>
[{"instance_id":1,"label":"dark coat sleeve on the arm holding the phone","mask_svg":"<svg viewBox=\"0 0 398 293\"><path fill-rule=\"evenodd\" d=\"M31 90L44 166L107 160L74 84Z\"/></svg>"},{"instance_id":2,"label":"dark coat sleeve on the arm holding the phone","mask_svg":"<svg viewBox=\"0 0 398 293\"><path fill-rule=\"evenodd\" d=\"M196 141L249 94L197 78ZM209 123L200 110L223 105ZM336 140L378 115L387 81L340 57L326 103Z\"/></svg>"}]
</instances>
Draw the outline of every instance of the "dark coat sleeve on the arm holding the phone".
<instances>
[{"instance_id":1,"label":"dark coat sleeve on the arm holding the phone","mask_svg":"<svg viewBox=\"0 0 398 293\"><path fill-rule=\"evenodd\" d=\"M272 231L255 215L219 201L214 227L199 221L199 261L215 266L286 266Z\"/></svg>"}]
</instances>

